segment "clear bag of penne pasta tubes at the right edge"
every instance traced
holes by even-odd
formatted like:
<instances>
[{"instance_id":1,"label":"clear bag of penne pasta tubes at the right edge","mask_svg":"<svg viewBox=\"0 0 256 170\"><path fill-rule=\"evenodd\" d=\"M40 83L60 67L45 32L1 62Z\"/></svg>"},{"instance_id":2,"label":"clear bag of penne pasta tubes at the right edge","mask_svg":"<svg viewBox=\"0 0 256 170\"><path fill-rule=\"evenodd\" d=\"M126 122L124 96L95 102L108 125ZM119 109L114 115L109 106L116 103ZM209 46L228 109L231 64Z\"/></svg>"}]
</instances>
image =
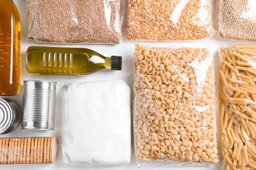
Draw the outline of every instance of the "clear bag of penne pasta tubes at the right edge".
<instances>
[{"instance_id":1,"label":"clear bag of penne pasta tubes at the right edge","mask_svg":"<svg viewBox=\"0 0 256 170\"><path fill-rule=\"evenodd\" d=\"M226 169L256 169L256 44L221 49L219 121Z\"/></svg>"}]
</instances>

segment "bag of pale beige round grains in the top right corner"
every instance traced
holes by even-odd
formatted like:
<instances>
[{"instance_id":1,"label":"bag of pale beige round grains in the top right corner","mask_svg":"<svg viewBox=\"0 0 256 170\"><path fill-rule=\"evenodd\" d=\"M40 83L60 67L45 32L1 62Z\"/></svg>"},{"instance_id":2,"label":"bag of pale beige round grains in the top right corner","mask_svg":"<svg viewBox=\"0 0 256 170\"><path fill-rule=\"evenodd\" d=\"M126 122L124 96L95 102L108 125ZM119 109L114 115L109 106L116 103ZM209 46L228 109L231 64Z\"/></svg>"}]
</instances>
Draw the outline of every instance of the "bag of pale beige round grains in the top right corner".
<instances>
[{"instance_id":1,"label":"bag of pale beige round grains in the top right corner","mask_svg":"<svg viewBox=\"0 0 256 170\"><path fill-rule=\"evenodd\" d=\"M218 0L217 30L224 39L256 40L256 2Z\"/></svg>"}]
</instances>

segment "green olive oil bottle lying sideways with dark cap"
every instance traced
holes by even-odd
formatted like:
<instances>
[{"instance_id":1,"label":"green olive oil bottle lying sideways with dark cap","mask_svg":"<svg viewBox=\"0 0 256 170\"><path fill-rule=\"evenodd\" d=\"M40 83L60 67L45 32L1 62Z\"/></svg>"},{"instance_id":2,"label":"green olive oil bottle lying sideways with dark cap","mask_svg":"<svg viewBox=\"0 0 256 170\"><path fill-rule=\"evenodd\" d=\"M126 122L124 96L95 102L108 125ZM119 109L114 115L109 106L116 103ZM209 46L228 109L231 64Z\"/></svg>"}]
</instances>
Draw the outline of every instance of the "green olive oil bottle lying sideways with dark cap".
<instances>
[{"instance_id":1,"label":"green olive oil bottle lying sideways with dark cap","mask_svg":"<svg viewBox=\"0 0 256 170\"><path fill-rule=\"evenodd\" d=\"M88 48L30 46L26 53L28 73L88 75L102 69L121 70L121 56L107 58Z\"/></svg>"}]
</instances>

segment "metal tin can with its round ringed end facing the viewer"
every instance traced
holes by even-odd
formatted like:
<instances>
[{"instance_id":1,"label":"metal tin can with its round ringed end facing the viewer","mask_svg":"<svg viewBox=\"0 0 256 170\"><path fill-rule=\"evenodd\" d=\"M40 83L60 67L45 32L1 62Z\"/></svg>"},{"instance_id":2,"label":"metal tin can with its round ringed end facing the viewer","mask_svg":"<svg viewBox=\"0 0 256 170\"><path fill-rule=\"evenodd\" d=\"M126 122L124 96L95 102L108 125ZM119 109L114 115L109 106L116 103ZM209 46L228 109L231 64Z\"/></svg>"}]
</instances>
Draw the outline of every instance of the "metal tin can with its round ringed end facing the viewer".
<instances>
[{"instance_id":1,"label":"metal tin can with its round ringed end facing the viewer","mask_svg":"<svg viewBox=\"0 0 256 170\"><path fill-rule=\"evenodd\" d=\"M0 98L0 134L13 131L20 125L22 112L11 99Z\"/></svg>"}]
</instances>

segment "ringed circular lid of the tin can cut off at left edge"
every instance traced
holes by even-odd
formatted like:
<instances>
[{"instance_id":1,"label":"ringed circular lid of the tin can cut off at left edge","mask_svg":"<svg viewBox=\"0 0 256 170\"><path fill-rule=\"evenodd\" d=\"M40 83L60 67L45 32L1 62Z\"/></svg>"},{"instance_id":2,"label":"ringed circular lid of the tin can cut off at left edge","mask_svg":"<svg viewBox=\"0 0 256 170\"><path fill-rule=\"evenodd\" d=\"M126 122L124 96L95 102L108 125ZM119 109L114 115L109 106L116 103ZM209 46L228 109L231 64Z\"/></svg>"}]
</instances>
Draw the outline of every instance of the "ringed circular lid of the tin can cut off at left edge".
<instances>
[{"instance_id":1,"label":"ringed circular lid of the tin can cut off at left edge","mask_svg":"<svg viewBox=\"0 0 256 170\"><path fill-rule=\"evenodd\" d=\"M9 103L0 98L0 134L5 133L12 122L12 108Z\"/></svg>"}]
</instances>

